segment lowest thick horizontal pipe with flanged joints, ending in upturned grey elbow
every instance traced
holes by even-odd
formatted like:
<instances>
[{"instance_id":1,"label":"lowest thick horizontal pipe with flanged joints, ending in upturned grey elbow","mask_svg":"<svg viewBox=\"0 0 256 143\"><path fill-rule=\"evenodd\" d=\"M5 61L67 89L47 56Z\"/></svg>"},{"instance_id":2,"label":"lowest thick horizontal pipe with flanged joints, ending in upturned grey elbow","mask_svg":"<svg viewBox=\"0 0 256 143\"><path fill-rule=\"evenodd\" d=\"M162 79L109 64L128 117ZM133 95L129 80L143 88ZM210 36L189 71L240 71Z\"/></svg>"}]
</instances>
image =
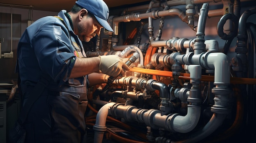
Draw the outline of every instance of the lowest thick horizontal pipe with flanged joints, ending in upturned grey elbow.
<instances>
[{"instance_id":1,"label":"lowest thick horizontal pipe with flanged joints, ending in upturned grey elbow","mask_svg":"<svg viewBox=\"0 0 256 143\"><path fill-rule=\"evenodd\" d=\"M188 114L183 117L178 114L161 115L160 111L155 109L138 109L135 106L115 104L110 107L110 114L115 117L124 118L126 121L145 123L155 129L163 128L168 131L189 132L197 124L200 117L200 108L189 106Z\"/></svg>"}]
</instances>

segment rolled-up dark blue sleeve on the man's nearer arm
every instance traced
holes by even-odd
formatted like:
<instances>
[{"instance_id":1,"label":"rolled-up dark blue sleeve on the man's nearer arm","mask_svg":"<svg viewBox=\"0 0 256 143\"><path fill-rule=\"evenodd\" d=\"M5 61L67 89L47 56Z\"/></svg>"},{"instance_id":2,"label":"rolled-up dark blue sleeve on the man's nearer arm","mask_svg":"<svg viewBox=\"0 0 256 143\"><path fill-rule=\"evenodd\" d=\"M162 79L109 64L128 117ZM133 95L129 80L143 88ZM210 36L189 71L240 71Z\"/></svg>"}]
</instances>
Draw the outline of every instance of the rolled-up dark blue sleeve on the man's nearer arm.
<instances>
[{"instance_id":1,"label":"rolled-up dark blue sleeve on the man's nearer arm","mask_svg":"<svg viewBox=\"0 0 256 143\"><path fill-rule=\"evenodd\" d=\"M58 22L46 22L31 39L31 47L43 73L47 73L61 85L70 77L76 56L65 26Z\"/></svg>"}]
</instances>

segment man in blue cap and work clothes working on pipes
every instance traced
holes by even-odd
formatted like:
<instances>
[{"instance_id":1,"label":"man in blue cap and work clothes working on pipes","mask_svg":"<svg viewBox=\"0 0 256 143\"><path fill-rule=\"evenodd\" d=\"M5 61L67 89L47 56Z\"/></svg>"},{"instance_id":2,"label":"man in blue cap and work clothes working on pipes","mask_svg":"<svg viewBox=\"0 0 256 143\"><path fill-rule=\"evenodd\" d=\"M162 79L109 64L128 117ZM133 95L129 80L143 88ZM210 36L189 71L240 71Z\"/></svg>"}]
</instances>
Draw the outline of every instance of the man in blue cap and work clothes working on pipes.
<instances>
[{"instance_id":1,"label":"man in blue cap and work clothes working on pipes","mask_svg":"<svg viewBox=\"0 0 256 143\"><path fill-rule=\"evenodd\" d=\"M103 0L77 0L70 12L40 18L23 33L16 66L23 107L40 78L49 81L29 110L26 143L86 141L87 87L103 83L105 74L121 77L129 69L116 55L86 58L81 41L90 41L103 27L113 31L108 16Z\"/></svg>"}]
</instances>

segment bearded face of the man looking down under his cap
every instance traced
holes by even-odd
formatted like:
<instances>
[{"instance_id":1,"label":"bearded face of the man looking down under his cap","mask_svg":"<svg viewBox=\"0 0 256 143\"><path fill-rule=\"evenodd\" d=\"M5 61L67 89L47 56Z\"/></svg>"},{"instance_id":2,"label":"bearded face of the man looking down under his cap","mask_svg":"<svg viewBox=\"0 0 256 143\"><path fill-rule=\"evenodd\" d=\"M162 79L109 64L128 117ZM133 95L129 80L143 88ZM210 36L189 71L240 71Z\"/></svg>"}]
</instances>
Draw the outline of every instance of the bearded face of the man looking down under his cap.
<instances>
[{"instance_id":1,"label":"bearded face of the man looking down under his cap","mask_svg":"<svg viewBox=\"0 0 256 143\"><path fill-rule=\"evenodd\" d=\"M94 16L88 17L88 15L84 15L78 24L77 35L81 41L89 42L96 34L100 34L101 28L103 28L103 26L99 24Z\"/></svg>"}]
</instances>

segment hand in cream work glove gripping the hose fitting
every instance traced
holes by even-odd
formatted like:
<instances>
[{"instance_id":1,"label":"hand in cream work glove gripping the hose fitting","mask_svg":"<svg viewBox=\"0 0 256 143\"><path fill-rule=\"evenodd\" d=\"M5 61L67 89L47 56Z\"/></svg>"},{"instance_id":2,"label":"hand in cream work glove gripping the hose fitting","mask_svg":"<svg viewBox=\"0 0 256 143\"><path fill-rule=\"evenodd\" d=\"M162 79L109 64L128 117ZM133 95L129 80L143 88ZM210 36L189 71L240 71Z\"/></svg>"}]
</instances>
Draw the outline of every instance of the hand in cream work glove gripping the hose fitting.
<instances>
[{"instance_id":1,"label":"hand in cream work glove gripping the hose fitting","mask_svg":"<svg viewBox=\"0 0 256 143\"><path fill-rule=\"evenodd\" d=\"M117 77L125 74L124 70L129 70L129 67L123 62L121 57L117 55L102 55L99 63L99 70L112 77ZM121 78L121 77L120 77Z\"/></svg>"}]
</instances>

